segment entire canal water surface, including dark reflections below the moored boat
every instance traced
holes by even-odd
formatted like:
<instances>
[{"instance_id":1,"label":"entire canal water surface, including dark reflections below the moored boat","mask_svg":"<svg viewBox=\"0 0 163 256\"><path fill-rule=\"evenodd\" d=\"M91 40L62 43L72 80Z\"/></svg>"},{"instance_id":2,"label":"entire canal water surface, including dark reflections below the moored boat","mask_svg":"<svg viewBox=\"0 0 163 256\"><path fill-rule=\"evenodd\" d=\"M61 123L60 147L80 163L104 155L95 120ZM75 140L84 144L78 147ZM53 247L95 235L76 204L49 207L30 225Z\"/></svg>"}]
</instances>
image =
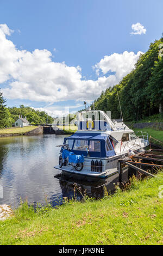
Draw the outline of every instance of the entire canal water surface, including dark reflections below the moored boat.
<instances>
[{"instance_id":1,"label":"entire canal water surface, including dark reflections below the moored boat","mask_svg":"<svg viewBox=\"0 0 163 256\"><path fill-rule=\"evenodd\" d=\"M64 137L42 135L0 139L0 204L16 208L21 199L27 199L29 204L45 205L48 199L55 206L64 197L74 197L74 182L89 197L103 197L104 187L114 191L117 174L97 181L77 180L76 177L66 178L63 175L54 177L60 173L53 168L59 162L60 148L55 146L62 144ZM76 197L82 198L78 190Z\"/></svg>"}]
</instances>

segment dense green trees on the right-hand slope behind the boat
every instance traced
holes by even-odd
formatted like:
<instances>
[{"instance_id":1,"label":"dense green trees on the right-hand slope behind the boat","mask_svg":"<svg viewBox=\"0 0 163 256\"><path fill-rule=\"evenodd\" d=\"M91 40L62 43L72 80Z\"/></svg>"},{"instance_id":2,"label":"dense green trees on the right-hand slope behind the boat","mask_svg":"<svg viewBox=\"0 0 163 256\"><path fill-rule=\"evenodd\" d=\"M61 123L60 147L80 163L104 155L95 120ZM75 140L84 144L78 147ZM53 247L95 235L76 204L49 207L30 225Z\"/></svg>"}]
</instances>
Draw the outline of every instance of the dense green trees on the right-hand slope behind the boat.
<instances>
[{"instance_id":1,"label":"dense green trees on the right-hand slope behind the boat","mask_svg":"<svg viewBox=\"0 0 163 256\"><path fill-rule=\"evenodd\" d=\"M163 57L156 40L142 54L135 69L114 87L109 87L95 100L95 109L111 111L111 118L120 118L118 95L123 118L126 121L140 120L163 112ZM163 45L161 45L163 46Z\"/></svg>"}]
</instances>

